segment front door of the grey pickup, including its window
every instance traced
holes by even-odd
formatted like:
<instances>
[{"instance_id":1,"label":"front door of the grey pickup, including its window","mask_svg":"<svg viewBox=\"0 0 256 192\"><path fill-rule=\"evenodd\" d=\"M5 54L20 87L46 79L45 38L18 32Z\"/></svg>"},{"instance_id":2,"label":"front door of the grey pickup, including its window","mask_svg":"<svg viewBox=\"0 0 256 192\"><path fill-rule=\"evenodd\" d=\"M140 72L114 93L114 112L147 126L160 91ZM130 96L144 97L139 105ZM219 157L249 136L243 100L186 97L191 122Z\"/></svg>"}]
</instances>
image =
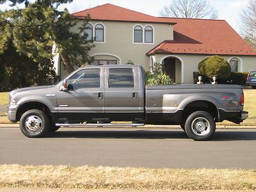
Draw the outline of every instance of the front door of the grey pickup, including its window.
<instances>
[{"instance_id":1,"label":"front door of the grey pickup, including its window","mask_svg":"<svg viewBox=\"0 0 256 192\"><path fill-rule=\"evenodd\" d=\"M83 68L57 93L58 116L72 121L104 118L104 67ZM94 115L93 115L94 114Z\"/></svg>"}]
</instances>

